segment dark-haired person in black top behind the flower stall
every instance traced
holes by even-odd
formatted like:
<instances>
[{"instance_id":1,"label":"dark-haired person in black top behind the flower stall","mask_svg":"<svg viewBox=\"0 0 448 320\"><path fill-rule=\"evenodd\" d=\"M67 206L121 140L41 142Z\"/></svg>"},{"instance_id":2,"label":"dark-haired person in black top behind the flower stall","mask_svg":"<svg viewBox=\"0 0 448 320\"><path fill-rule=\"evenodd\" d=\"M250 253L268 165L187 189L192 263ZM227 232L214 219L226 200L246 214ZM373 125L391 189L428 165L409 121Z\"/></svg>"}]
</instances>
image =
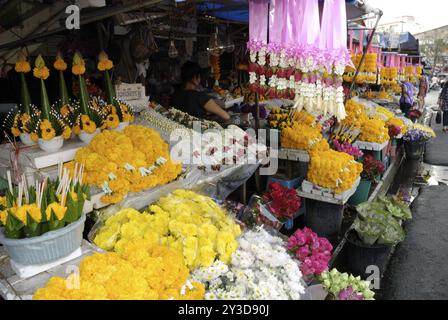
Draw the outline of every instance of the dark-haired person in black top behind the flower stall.
<instances>
[{"instance_id":1,"label":"dark-haired person in black top behind the flower stall","mask_svg":"<svg viewBox=\"0 0 448 320\"><path fill-rule=\"evenodd\" d=\"M201 119L206 118L209 113L222 120L230 120L230 115L208 94L199 91L201 68L197 63L186 62L182 66L181 76L182 88L174 94L173 107Z\"/></svg>"}]
</instances>

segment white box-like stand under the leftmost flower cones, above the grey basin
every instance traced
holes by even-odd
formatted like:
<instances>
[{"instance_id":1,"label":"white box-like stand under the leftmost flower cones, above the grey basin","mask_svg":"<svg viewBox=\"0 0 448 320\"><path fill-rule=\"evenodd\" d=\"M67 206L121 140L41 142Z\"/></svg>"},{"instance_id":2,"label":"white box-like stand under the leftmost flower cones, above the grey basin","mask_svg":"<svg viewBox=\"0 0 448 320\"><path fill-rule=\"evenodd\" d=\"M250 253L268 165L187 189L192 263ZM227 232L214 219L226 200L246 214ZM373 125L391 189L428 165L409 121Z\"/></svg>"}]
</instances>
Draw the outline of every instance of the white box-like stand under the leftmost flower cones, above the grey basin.
<instances>
[{"instance_id":1,"label":"white box-like stand under the leftmost flower cones, above the grey basin","mask_svg":"<svg viewBox=\"0 0 448 320\"><path fill-rule=\"evenodd\" d=\"M75 158L76 151L84 147L85 143L79 140L68 140L64 146L55 152L41 150L37 145L26 147L19 144L19 164L22 166L43 169L58 165L61 161L68 162ZM10 144L0 146L0 160L10 161L13 148Z\"/></svg>"}]
</instances>

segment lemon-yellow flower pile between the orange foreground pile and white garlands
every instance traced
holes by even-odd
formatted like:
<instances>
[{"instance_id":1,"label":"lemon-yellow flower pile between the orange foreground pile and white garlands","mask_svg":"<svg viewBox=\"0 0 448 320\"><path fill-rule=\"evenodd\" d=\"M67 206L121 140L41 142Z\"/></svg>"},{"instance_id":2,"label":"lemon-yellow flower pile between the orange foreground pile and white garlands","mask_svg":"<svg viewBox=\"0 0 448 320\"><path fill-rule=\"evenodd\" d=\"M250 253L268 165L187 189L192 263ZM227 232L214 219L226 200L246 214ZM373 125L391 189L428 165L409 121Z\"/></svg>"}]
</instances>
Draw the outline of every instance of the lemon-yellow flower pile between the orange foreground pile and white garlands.
<instances>
[{"instance_id":1,"label":"lemon-yellow flower pile between the orange foreground pile and white garlands","mask_svg":"<svg viewBox=\"0 0 448 320\"><path fill-rule=\"evenodd\" d=\"M129 242L146 239L181 254L191 270L209 267L215 259L230 262L241 229L213 200L187 190L176 190L139 213L125 209L110 217L94 239L105 250L122 252Z\"/></svg>"}]
</instances>

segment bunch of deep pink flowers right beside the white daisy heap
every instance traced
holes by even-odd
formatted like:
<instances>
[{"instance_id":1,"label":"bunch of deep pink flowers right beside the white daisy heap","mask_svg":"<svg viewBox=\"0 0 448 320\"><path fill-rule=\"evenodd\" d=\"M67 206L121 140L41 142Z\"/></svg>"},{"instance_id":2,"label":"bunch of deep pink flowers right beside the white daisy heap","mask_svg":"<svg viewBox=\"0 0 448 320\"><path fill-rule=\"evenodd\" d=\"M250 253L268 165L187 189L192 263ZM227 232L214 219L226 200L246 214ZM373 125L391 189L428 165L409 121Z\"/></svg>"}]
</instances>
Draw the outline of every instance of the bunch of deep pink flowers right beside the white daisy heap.
<instances>
[{"instance_id":1,"label":"bunch of deep pink flowers right beside the white daisy heap","mask_svg":"<svg viewBox=\"0 0 448 320\"><path fill-rule=\"evenodd\" d=\"M297 230L288 239L288 249L300 261L300 271L305 277L319 276L328 270L333 246L311 229Z\"/></svg>"}]
</instances>

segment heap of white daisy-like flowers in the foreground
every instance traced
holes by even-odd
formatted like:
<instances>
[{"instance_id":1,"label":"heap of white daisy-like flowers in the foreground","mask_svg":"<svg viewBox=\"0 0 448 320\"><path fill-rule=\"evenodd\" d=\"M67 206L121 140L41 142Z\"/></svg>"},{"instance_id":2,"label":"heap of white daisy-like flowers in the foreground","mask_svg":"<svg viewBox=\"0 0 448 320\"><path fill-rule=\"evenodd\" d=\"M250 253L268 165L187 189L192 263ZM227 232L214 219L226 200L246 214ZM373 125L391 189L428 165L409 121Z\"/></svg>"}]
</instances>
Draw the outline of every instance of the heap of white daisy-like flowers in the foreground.
<instances>
[{"instance_id":1,"label":"heap of white daisy-like flowers in the foreground","mask_svg":"<svg viewBox=\"0 0 448 320\"><path fill-rule=\"evenodd\" d=\"M192 273L205 284L206 300L300 300L305 285L285 243L264 228L247 231L229 265L216 260Z\"/></svg>"}]
</instances>

